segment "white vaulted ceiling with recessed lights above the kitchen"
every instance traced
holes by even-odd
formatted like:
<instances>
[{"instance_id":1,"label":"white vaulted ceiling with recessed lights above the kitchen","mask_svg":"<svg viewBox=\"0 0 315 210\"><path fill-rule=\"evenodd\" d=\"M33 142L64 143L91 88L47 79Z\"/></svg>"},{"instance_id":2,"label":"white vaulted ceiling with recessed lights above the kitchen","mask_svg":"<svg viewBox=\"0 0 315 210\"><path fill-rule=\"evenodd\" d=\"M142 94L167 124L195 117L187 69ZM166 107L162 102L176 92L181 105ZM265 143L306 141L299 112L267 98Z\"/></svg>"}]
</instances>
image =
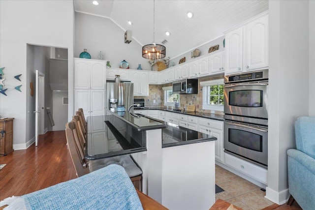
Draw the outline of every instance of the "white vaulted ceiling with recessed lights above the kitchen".
<instances>
[{"instance_id":1,"label":"white vaulted ceiling with recessed lights above the kitchen","mask_svg":"<svg viewBox=\"0 0 315 210\"><path fill-rule=\"evenodd\" d=\"M109 18L122 30L131 30L133 41L140 45L153 43L154 34L158 44L167 40L164 46L170 59L268 10L268 0L155 0L155 4L153 0L98 0L98 5L92 1L74 0L75 11ZM193 13L190 19L188 12Z\"/></svg>"}]
</instances>

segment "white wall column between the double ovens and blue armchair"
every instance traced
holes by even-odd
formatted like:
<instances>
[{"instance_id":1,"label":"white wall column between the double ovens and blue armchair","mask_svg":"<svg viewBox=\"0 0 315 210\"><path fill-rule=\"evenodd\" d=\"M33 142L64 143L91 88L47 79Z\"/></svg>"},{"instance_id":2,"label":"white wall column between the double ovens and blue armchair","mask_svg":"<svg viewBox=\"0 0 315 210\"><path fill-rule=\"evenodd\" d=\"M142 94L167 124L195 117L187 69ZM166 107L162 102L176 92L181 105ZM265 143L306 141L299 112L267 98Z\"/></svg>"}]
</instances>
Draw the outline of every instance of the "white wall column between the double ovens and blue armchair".
<instances>
[{"instance_id":1,"label":"white wall column between the double ovens and blue armchair","mask_svg":"<svg viewBox=\"0 0 315 210\"><path fill-rule=\"evenodd\" d=\"M272 91L268 108L266 197L283 204L288 198L286 150L295 148L294 121L309 115L309 1L270 0L269 30Z\"/></svg>"}]
</instances>

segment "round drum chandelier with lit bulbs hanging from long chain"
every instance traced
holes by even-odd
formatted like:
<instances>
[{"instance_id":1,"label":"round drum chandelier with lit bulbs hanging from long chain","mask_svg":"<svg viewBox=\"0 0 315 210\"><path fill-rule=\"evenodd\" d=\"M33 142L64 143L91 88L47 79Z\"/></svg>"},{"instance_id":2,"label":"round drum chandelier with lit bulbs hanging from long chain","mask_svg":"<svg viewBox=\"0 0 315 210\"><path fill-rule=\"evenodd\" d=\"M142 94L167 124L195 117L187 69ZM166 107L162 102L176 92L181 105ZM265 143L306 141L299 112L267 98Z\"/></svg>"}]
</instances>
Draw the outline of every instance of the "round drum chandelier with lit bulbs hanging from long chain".
<instances>
[{"instance_id":1,"label":"round drum chandelier with lit bulbs hanging from long chain","mask_svg":"<svg viewBox=\"0 0 315 210\"><path fill-rule=\"evenodd\" d=\"M165 58L165 54L166 48L155 43L155 0L153 0L153 43L142 47L142 57L155 64L156 60Z\"/></svg>"}]
</instances>

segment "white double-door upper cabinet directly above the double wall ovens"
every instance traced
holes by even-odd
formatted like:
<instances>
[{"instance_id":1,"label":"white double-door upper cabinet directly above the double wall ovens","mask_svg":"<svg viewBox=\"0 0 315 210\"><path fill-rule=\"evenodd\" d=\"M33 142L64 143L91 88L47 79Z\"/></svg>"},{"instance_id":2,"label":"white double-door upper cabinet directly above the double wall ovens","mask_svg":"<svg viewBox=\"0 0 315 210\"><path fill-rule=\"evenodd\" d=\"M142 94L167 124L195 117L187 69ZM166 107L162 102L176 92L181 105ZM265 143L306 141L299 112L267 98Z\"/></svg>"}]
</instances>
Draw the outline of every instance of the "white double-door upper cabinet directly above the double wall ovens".
<instances>
[{"instance_id":1,"label":"white double-door upper cabinet directly above the double wall ovens","mask_svg":"<svg viewBox=\"0 0 315 210\"><path fill-rule=\"evenodd\" d=\"M268 67L268 14L225 34L225 75Z\"/></svg>"}]
</instances>

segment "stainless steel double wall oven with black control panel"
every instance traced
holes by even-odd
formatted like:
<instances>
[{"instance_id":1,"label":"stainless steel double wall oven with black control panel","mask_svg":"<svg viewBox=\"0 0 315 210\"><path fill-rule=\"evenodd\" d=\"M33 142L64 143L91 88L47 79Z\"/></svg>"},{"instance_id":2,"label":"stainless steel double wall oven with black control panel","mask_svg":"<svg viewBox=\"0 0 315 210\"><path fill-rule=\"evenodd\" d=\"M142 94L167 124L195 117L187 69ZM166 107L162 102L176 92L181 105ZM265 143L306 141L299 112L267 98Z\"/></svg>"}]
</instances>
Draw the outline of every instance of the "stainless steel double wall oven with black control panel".
<instances>
[{"instance_id":1,"label":"stainless steel double wall oven with black control panel","mask_svg":"<svg viewBox=\"0 0 315 210\"><path fill-rule=\"evenodd\" d=\"M268 166L268 69L224 77L224 152Z\"/></svg>"}]
</instances>

